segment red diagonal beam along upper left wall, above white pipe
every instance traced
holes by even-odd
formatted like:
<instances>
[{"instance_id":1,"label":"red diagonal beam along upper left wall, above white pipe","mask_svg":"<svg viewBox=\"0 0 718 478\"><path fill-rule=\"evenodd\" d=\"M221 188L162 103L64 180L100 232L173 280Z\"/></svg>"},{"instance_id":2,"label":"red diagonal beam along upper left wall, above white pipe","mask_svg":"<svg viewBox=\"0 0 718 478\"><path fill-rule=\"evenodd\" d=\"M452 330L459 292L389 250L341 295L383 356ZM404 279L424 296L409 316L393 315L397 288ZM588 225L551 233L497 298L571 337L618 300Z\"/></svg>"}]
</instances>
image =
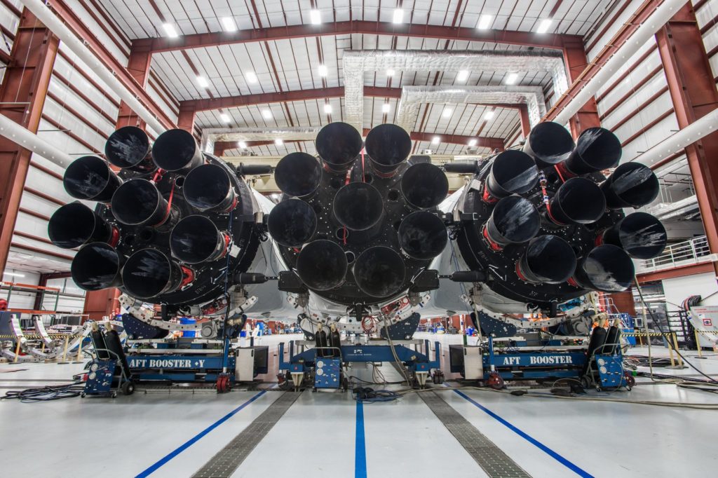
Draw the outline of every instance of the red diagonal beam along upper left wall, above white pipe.
<instances>
[{"instance_id":1,"label":"red diagonal beam along upper left wall, above white pipe","mask_svg":"<svg viewBox=\"0 0 718 478\"><path fill-rule=\"evenodd\" d=\"M50 4L50 8L55 11L57 17L62 19L62 22L65 22L67 28L69 28L70 31L72 31L78 38L82 39L83 42L88 45L88 48L90 48L90 50L97 55L101 62L115 73L116 78L120 81L120 83L122 83L127 90L134 94L136 98L150 111L150 113L157 117L158 121L162 123L165 128L177 127L175 126L174 121L172 121L172 119L169 118L164 111L162 111L162 108L160 108L151 98L149 93L146 92L143 85L138 83L129 70L127 70L127 68L111 54L107 47L103 45L97 37L95 37L93 32L88 28L88 25L75 14L73 9L67 6L65 0L53 0L52 4ZM135 49L139 51L144 50L141 45L133 44L133 50Z\"/></svg>"}]
</instances>

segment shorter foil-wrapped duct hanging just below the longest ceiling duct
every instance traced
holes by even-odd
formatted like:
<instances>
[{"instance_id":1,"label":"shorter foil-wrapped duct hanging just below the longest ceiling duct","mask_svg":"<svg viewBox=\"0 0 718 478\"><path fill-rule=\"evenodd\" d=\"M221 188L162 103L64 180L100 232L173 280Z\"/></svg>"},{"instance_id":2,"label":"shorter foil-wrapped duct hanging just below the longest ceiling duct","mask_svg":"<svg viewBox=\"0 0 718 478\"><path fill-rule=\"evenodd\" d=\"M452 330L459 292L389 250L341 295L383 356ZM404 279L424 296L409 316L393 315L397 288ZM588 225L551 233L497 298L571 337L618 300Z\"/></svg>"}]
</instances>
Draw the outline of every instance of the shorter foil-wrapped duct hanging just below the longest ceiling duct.
<instances>
[{"instance_id":1,"label":"shorter foil-wrapped duct hanging just below the longest ceiling duct","mask_svg":"<svg viewBox=\"0 0 718 478\"><path fill-rule=\"evenodd\" d=\"M414 131L424 103L460 105L465 103L521 103L528 107L531 126L546 115L544 90L540 86L404 86L396 108L396 123Z\"/></svg>"}]
</instances>

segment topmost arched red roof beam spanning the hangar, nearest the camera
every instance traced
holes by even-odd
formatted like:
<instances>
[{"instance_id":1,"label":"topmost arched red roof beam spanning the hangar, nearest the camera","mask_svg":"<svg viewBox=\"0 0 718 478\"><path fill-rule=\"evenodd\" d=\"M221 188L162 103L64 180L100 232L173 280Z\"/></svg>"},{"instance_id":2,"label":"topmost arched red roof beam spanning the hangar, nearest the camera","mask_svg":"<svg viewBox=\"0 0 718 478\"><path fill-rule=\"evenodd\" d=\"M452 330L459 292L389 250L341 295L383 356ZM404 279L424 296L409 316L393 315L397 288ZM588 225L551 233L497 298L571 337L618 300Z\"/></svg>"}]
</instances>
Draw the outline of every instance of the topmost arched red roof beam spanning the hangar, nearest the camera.
<instances>
[{"instance_id":1,"label":"topmost arched red roof beam spanning the hangar, nearest the camera","mask_svg":"<svg viewBox=\"0 0 718 478\"><path fill-rule=\"evenodd\" d=\"M266 42L280 39L325 37L330 35L377 34L392 37L416 37L468 42L491 42L518 44L526 47L561 50L564 42L583 41L579 35L536 34L534 32L511 32L508 30L479 30L468 27L444 27L442 25L394 24L391 22L327 22L319 25L287 25L243 29L236 32L212 32L181 35L179 38L140 38L135 45L148 47L151 52L172 52L192 48L217 47L223 44Z\"/></svg>"}]
</instances>

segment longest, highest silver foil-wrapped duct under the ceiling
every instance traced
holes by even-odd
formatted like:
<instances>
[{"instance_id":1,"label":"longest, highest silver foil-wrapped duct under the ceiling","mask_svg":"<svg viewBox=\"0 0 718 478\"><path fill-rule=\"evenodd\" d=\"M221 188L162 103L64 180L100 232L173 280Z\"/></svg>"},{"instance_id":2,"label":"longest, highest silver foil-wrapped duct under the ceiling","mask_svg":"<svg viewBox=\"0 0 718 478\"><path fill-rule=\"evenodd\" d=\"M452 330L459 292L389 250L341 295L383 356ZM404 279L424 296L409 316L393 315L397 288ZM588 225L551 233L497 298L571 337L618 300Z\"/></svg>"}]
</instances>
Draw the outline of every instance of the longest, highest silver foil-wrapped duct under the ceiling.
<instances>
[{"instance_id":1,"label":"longest, highest silver foil-wrapped duct under the ceiling","mask_svg":"<svg viewBox=\"0 0 718 478\"><path fill-rule=\"evenodd\" d=\"M568 89L566 67L561 52L500 50L487 52L454 52L445 50L368 50L345 51L344 73L345 121L362 131L364 116L364 72L409 71L547 71L554 90L561 95Z\"/></svg>"}]
</instances>

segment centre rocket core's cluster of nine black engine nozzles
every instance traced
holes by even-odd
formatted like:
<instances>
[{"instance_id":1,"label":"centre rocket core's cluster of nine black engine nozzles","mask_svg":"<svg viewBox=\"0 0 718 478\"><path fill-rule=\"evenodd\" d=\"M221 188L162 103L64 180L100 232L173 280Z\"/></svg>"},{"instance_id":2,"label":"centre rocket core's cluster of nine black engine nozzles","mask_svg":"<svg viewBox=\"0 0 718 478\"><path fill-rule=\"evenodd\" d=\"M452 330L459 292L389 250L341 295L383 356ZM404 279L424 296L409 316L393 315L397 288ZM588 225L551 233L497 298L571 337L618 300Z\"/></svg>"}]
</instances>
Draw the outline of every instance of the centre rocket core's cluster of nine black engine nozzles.
<instances>
[{"instance_id":1,"label":"centre rocket core's cluster of nine black engine nozzles","mask_svg":"<svg viewBox=\"0 0 718 478\"><path fill-rule=\"evenodd\" d=\"M448 240L437 212L444 172L407 161L411 139L393 124L363 144L353 126L330 123L316 146L319 159L292 153L274 173L284 195L268 228L287 266L307 289L347 306L436 289L437 271L427 268Z\"/></svg>"}]
</instances>

